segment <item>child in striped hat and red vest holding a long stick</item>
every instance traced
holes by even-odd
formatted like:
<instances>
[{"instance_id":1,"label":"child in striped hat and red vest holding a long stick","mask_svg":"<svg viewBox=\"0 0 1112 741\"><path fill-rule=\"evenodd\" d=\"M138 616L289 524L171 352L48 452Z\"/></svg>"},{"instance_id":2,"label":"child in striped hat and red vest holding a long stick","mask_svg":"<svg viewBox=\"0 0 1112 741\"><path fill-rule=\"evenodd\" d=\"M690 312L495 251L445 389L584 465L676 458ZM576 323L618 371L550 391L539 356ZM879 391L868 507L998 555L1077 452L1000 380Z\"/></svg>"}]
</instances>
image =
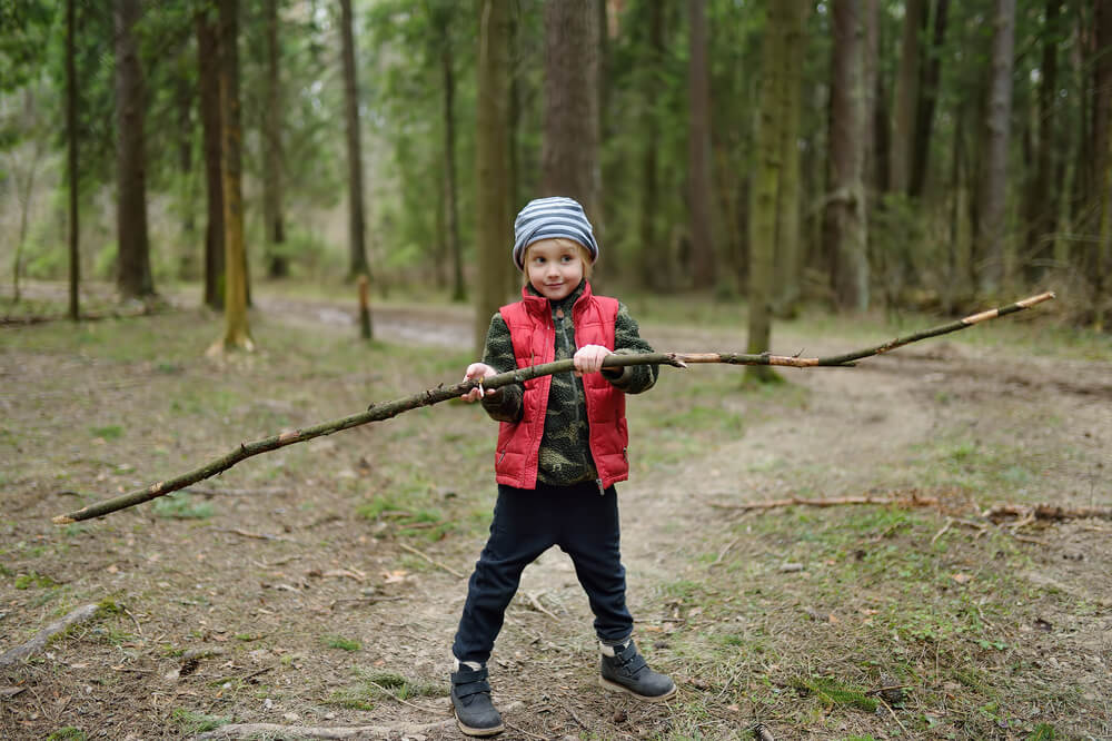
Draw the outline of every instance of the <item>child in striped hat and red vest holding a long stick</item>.
<instances>
[{"instance_id":1,"label":"child in striped hat and red vest holding a long stick","mask_svg":"<svg viewBox=\"0 0 1112 741\"><path fill-rule=\"evenodd\" d=\"M625 394L651 388L658 368L602 367L612 352L653 349L625 306L590 293L598 245L579 204L534 200L514 221L514 263L526 275L522 300L494 315L483 363L469 365L465 379L568 357L575 372L464 395L468 402L481 398L502 423L490 537L471 574L453 645L451 703L468 735L503 730L486 662L522 571L553 545L572 556L595 613L602 685L651 702L676 692L631 639L614 491L629 471Z\"/></svg>"}]
</instances>

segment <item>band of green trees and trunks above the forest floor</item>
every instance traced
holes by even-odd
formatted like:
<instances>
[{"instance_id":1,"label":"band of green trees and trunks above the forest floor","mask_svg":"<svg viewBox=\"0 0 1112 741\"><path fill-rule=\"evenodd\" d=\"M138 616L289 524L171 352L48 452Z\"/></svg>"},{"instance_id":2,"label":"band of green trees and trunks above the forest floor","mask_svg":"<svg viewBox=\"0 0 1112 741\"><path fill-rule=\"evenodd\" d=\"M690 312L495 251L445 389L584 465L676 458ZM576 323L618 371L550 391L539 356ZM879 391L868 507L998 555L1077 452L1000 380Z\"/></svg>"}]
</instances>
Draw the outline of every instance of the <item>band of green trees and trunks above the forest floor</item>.
<instances>
[{"instance_id":1,"label":"band of green trees and trunks above the forest floor","mask_svg":"<svg viewBox=\"0 0 1112 741\"><path fill-rule=\"evenodd\" d=\"M0 22L9 316L37 310L27 278L199 280L216 309L236 292L242 344L250 280L368 274L471 300L478 342L516 293L513 214L560 194L599 283L743 297L753 350L808 300L1053 286L1105 325L1102 0L32 0Z\"/></svg>"}]
</instances>

